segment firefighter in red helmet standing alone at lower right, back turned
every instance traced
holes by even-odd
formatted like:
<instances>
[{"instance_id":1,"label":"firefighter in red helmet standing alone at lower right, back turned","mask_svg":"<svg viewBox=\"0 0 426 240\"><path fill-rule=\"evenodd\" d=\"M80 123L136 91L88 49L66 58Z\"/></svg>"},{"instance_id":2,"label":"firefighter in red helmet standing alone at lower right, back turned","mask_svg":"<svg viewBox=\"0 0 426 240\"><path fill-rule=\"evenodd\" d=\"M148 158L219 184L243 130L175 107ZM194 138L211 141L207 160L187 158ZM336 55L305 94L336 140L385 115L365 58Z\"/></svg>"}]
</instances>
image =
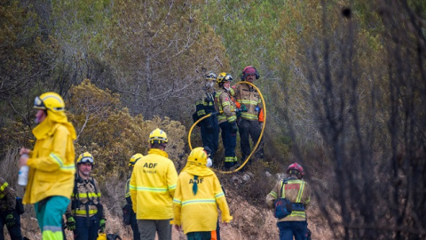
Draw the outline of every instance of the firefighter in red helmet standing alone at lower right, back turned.
<instances>
[{"instance_id":1,"label":"firefighter in red helmet standing alone at lower right, back turned","mask_svg":"<svg viewBox=\"0 0 426 240\"><path fill-rule=\"evenodd\" d=\"M306 208L311 201L311 188L302 180L304 168L297 163L290 164L287 169L288 179L278 181L266 196L266 204L273 208L278 198L287 198L291 202L292 212L277 222L280 229L280 240L304 240L308 237Z\"/></svg>"}]
</instances>

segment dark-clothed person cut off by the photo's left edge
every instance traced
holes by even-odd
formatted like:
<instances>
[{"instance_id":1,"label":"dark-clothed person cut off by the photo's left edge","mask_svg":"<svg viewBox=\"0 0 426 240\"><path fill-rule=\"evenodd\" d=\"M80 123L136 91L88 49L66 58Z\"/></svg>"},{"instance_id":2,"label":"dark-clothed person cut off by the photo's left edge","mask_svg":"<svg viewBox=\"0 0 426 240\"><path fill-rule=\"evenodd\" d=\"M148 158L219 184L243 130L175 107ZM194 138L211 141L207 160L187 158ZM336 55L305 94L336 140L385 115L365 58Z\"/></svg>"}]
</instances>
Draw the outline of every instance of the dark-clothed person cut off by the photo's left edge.
<instances>
[{"instance_id":1,"label":"dark-clothed person cut off by the photo's left edge","mask_svg":"<svg viewBox=\"0 0 426 240\"><path fill-rule=\"evenodd\" d=\"M16 211L16 191L0 177L0 240L4 240L4 224L12 240L22 239L20 213Z\"/></svg>"}]
</instances>

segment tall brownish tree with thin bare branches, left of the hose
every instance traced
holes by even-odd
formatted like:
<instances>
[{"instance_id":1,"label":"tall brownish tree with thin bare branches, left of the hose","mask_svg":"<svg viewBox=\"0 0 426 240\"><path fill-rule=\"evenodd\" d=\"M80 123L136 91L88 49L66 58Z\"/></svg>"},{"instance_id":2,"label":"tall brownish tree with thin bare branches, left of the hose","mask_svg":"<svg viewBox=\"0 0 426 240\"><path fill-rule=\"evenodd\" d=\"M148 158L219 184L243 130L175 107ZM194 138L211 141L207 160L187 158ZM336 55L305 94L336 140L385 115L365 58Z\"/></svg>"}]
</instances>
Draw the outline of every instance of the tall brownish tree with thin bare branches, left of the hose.
<instances>
[{"instance_id":1,"label":"tall brownish tree with thin bare branches, left of the hose","mask_svg":"<svg viewBox=\"0 0 426 240\"><path fill-rule=\"evenodd\" d=\"M200 20L198 4L115 2L108 60L116 67L114 90L132 113L187 118L202 76L228 65L219 38Z\"/></svg>"}]
</instances>

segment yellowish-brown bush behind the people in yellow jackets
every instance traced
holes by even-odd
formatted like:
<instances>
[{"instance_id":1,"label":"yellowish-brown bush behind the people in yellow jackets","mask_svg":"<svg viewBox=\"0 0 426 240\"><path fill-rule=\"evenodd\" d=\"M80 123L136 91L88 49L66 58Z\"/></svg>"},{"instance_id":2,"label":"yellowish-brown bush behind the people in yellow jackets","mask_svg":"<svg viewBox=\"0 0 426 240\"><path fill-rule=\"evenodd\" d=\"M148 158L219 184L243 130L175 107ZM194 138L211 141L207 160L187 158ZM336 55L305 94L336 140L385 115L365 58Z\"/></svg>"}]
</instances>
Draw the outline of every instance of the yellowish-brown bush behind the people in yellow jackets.
<instances>
[{"instance_id":1,"label":"yellowish-brown bush behind the people in yellow jackets","mask_svg":"<svg viewBox=\"0 0 426 240\"><path fill-rule=\"evenodd\" d=\"M75 155L89 151L95 158L94 174L104 182L115 176L127 177L130 156L146 155L148 136L159 127L168 134L166 148L175 164L183 154L185 127L169 117L155 116L144 120L141 115L130 116L128 108L122 108L119 95L109 90L103 91L86 79L70 90L68 115L75 124L78 139L75 142Z\"/></svg>"}]
</instances>

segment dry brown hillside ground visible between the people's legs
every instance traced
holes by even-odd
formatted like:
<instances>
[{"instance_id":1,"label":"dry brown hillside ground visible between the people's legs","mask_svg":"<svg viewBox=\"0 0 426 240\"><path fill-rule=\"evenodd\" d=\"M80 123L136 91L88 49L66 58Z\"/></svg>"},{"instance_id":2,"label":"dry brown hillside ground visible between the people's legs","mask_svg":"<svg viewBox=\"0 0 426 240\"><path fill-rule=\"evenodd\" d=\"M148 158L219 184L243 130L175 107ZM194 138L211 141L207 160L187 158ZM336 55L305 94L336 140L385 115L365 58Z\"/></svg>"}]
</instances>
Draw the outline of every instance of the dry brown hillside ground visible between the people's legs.
<instances>
[{"instance_id":1,"label":"dry brown hillside ground visible between the people's legs","mask_svg":"<svg viewBox=\"0 0 426 240\"><path fill-rule=\"evenodd\" d=\"M278 239L279 233L276 227L276 219L273 217L271 210L249 204L244 199L244 196L239 195L233 188L225 190L230 211L233 215L233 222L227 226L221 224L222 240ZM130 227L122 224L122 216L112 215L111 211L111 209L106 210L107 233L118 234L122 237L122 240L130 240L132 237ZM312 239L333 239L326 220L319 213L319 207L315 199L312 199L312 206L307 213ZM42 239L37 221L33 216L33 207L27 207L26 212L21 215L22 234L31 240ZM6 229L4 230L7 232ZM6 239L10 239L8 234L6 234ZM70 231L67 231L67 239L73 239ZM186 237L183 232L177 232L173 228L172 239L184 240Z\"/></svg>"}]
</instances>

